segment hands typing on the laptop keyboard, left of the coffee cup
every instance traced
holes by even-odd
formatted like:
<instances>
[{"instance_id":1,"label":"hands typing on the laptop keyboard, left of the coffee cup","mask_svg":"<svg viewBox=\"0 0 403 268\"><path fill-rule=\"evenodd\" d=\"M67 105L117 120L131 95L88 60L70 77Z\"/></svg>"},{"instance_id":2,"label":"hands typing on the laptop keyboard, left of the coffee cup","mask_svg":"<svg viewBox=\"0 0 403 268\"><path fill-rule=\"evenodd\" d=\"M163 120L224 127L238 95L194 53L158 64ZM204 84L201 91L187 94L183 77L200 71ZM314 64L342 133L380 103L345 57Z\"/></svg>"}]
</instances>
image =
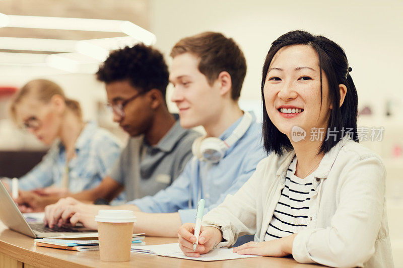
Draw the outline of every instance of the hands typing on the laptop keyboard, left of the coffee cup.
<instances>
[{"instance_id":1,"label":"hands typing on the laptop keyboard, left of the coffee cup","mask_svg":"<svg viewBox=\"0 0 403 268\"><path fill-rule=\"evenodd\" d=\"M75 226L81 222L85 227L96 230L95 216L103 206L84 204L72 197L62 198L53 205L46 206L44 223L50 228L63 224Z\"/></svg>"}]
</instances>

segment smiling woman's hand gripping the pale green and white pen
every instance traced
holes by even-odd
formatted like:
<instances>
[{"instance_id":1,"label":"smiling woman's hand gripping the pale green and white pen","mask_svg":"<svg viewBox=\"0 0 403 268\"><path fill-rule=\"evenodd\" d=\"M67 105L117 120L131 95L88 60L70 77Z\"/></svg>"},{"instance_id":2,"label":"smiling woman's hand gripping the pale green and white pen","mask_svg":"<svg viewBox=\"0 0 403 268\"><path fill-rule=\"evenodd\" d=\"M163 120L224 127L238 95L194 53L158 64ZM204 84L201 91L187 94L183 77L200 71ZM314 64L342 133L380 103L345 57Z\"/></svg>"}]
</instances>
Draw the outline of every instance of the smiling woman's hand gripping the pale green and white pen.
<instances>
[{"instance_id":1,"label":"smiling woman's hand gripping the pale green and white pen","mask_svg":"<svg viewBox=\"0 0 403 268\"><path fill-rule=\"evenodd\" d=\"M222 233L218 228L201 226L198 245L193 251L193 242L196 242L194 227L194 223L185 223L178 230L179 247L188 257L199 257L200 254L209 252L223 239Z\"/></svg>"}]
</instances>

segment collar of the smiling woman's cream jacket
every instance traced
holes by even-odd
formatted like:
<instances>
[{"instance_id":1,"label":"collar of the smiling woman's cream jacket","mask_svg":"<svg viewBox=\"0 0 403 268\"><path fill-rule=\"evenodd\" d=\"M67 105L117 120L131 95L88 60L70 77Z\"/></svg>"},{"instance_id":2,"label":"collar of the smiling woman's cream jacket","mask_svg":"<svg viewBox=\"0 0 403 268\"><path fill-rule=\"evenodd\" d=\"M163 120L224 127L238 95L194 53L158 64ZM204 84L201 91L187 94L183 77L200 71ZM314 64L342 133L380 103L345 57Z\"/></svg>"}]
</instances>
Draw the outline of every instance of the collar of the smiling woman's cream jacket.
<instances>
[{"instance_id":1,"label":"collar of the smiling woman's cream jacket","mask_svg":"<svg viewBox=\"0 0 403 268\"><path fill-rule=\"evenodd\" d=\"M338 156L340 149L351 140L350 135L346 135L343 139L341 139L336 145L334 145L330 151L325 153L318 168L313 172L314 177L318 178L326 178L330 172L330 168L332 167L336 157ZM280 157L279 163L280 167L277 169L277 176L281 176L283 173L287 171L288 166L291 163L291 160L295 156L295 151L291 150ZM285 176L281 176L281 178L285 179Z\"/></svg>"}]
</instances>

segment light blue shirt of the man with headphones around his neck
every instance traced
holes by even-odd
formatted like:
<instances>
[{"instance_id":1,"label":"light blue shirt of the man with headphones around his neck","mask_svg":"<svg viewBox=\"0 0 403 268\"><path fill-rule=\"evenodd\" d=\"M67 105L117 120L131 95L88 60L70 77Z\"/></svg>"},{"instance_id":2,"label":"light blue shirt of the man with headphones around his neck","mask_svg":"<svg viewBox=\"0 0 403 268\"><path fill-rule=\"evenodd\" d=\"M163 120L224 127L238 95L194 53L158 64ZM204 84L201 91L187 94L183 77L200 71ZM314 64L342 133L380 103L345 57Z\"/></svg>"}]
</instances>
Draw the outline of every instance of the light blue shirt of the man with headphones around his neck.
<instances>
[{"instance_id":1,"label":"light blue shirt of the man with headphones around his neck","mask_svg":"<svg viewBox=\"0 0 403 268\"><path fill-rule=\"evenodd\" d=\"M138 206L148 213L179 212L182 223L194 222L199 198L205 199L205 213L221 204L228 194L234 194L255 171L257 163L266 153L261 141L261 124L253 122L246 133L225 153L218 163L208 163L193 158L176 181L153 197L146 196L128 204ZM241 122L238 119L221 136L228 138ZM191 200L191 207L189 207Z\"/></svg>"}]
</instances>

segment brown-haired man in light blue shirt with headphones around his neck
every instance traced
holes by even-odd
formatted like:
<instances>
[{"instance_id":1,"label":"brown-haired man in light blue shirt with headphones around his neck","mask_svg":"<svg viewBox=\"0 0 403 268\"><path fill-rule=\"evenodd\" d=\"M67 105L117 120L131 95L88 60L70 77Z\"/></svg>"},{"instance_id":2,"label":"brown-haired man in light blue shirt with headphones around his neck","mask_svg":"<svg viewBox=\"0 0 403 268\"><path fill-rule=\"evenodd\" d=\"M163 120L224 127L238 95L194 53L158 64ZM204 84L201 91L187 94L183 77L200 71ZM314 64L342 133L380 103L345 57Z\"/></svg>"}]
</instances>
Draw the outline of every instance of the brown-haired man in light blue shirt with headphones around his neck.
<instances>
[{"instance_id":1,"label":"brown-haired man in light blue shirt with headphones around his neck","mask_svg":"<svg viewBox=\"0 0 403 268\"><path fill-rule=\"evenodd\" d=\"M154 236L177 236L182 223L194 221L200 198L206 201L206 213L234 194L265 157L261 124L238 106L246 74L238 45L220 33L206 32L180 40L171 56L171 100L179 108L180 124L201 125L206 135L193 142L194 157L170 187L115 207L135 211L134 231ZM96 229L94 216L106 208L64 199L46 208L46 221L50 227L81 222Z\"/></svg>"}]
</instances>

